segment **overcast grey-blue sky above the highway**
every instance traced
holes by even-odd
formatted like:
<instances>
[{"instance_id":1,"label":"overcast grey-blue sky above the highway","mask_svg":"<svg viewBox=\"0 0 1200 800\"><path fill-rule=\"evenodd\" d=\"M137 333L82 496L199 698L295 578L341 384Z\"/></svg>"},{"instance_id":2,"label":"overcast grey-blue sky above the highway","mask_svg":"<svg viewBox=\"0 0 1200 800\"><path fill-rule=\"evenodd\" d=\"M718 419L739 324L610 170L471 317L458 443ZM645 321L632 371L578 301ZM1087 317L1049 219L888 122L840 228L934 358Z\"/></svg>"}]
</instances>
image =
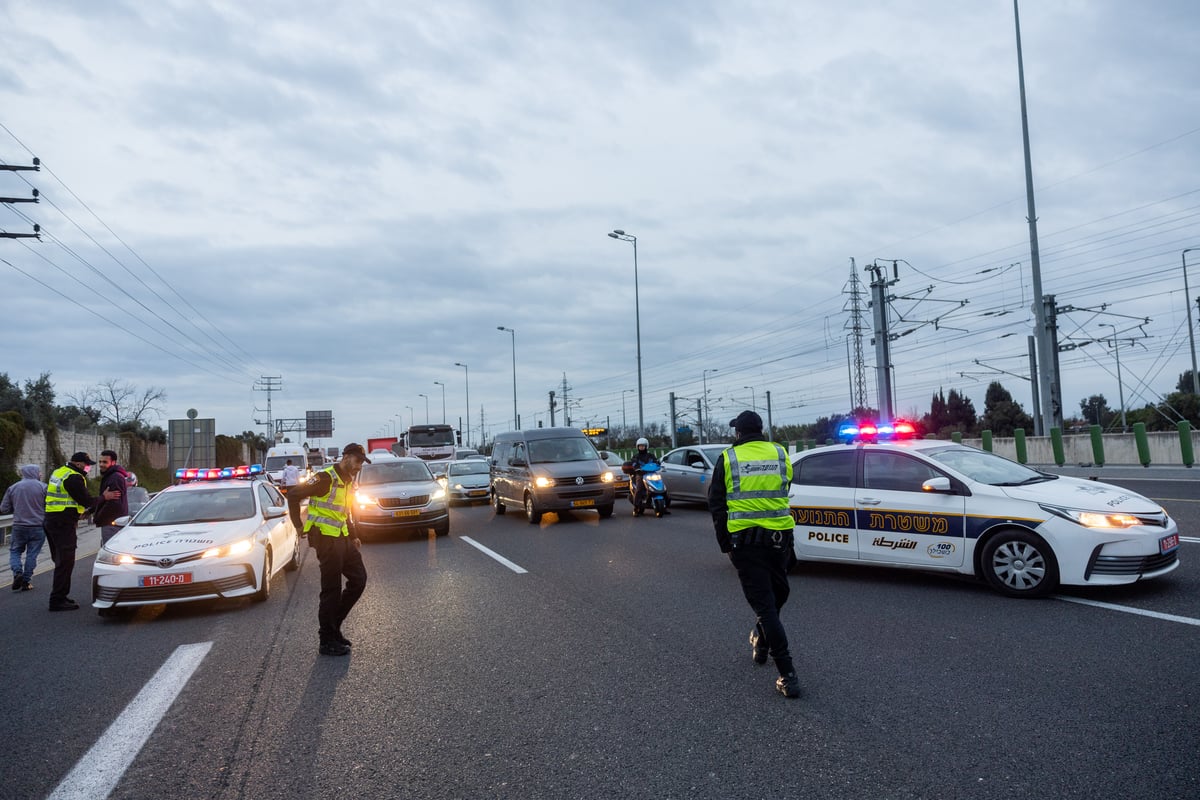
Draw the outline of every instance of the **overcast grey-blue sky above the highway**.
<instances>
[{"instance_id":1,"label":"overcast grey-blue sky above the highway","mask_svg":"<svg viewBox=\"0 0 1200 800\"><path fill-rule=\"evenodd\" d=\"M1026 2L1021 34L1043 289L1090 342L1064 408L1117 405L1114 339L1140 407L1190 368L1200 4ZM647 425L706 383L722 422L846 413L875 259L899 411L982 413L996 378L1033 410L1008 0L4 0L0 52L0 163L43 163L0 173L42 193L0 230L43 230L0 239L0 372L60 402L115 378L265 432L280 377L272 415L331 410L340 445L443 396L457 425L469 389L478 440L515 341L524 427L564 377L572 423L636 426L619 228Z\"/></svg>"}]
</instances>

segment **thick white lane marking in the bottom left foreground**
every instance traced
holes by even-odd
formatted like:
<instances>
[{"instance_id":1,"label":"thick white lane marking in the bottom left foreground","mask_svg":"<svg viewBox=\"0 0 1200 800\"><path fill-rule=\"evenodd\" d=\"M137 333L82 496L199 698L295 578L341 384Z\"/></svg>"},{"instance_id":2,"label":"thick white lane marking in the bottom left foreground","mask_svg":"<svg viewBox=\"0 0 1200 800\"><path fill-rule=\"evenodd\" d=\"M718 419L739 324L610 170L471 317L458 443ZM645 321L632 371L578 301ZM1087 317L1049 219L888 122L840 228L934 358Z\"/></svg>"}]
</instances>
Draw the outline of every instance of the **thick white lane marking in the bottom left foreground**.
<instances>
[{"instance_id":1,"label":"thick white lane marking in the bottom left foreground","mask_svg":"<svg viewBox=\"0 0 1200 800\"><path fill-rule=\"evenodd\" d=\"M175 648L47 800L103 800L112 794L211 648L211 642Z\"/></svg>"}]
</instances>

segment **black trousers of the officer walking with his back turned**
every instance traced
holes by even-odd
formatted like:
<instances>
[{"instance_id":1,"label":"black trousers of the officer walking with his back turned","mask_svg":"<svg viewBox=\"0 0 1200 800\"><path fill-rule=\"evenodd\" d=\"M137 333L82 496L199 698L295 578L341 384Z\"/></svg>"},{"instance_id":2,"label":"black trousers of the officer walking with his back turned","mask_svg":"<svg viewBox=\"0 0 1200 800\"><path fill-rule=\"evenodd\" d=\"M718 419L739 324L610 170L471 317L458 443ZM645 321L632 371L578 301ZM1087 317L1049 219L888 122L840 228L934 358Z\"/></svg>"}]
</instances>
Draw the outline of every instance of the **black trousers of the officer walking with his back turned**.
<instances>
[{"instance_id":1,"label":"black trousers of the officer walking with his back turned","mask_svg":"<svg viewBox=\"0 0 1200 800\"><path fill-rule=\"evenodd\" d=\"M776 531L762 530L766 536ZM764 536L764 539L766 539ZM791 561L792 537L785 534L779 545L770 542L739 545L730 551L730 561L738 571L742 594L754 609L758 636L779 667L780 674L792 672L792 656L787 646L787 632L779 619L779 612L792 591L787 583L787 565Z\"/></svg>"}]
</instances>

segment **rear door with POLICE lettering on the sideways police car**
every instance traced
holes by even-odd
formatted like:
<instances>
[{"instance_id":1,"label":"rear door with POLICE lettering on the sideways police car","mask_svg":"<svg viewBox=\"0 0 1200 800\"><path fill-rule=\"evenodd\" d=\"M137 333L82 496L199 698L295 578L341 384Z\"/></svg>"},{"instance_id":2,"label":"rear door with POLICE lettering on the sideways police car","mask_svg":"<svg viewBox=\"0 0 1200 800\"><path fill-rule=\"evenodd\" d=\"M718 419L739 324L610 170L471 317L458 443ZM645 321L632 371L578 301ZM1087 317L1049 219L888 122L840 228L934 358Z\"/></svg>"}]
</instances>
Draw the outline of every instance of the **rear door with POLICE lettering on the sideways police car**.
<instances>
[{"instance_id":1,"label":"rear door with POLICE lettering on the sideways police car","mask_svg":"<svg viewBox=\"0 0 1200 800\"><path fill-rule=\"evenodd\" d=\"M858 560L857 464L857 447L816 452L792 464L788 505L796 522L796 558Z\"/></svg>"}]
</instances>

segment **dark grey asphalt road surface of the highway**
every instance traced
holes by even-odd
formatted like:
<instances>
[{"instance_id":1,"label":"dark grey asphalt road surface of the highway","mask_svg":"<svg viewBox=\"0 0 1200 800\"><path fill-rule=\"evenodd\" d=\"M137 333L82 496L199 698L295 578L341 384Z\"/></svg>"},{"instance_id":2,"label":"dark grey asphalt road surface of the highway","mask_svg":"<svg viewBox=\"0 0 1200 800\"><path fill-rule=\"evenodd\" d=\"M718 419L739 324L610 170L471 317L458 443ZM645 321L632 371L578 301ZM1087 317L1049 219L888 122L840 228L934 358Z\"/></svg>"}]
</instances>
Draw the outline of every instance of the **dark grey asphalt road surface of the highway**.
<instances>
[{"instance_id":1,"label":"dark grey asphalt road surface of the highway","mask_svg":"<svg viewBox=\"0 0 1200 800\"><path fill-rule=\"evenodd\" d=\"M1130 488L1200 530L1193 483ZM707 512L628 507L455 509L448 539L367 543L346 658L317 654L308 551L265 603L113 620L0 593L0 795L50 796L178 648L211 643L132 763L85 777L130 799L1200 796L1200 543L1166 579L1044 601L800 565L786 700Z\"/></svg>"}]
</instances>

